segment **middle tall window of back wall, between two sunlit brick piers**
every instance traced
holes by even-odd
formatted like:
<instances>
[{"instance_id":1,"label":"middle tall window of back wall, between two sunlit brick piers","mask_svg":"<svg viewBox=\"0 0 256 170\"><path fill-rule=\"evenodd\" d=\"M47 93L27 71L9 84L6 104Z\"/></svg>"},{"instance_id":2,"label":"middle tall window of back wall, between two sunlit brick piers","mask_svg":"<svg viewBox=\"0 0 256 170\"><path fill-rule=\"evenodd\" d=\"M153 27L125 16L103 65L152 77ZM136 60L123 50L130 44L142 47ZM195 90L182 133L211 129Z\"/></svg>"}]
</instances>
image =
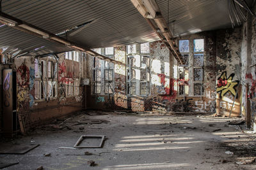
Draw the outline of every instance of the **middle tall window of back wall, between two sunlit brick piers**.
<instances>
[{"instance_id":1,"label":"middle tall window of back wall, between two sunlit brick piers","mask_svg":"<svg viewBox=\"0 0 256 170\"><path fill-rule=\"evenodd\" d=\"M140 54L136 54L136 47ZM127 46L127 94L150 94L149 44ZM139 89L139 90L136 90Z\"/></svg>"}]
</instances>

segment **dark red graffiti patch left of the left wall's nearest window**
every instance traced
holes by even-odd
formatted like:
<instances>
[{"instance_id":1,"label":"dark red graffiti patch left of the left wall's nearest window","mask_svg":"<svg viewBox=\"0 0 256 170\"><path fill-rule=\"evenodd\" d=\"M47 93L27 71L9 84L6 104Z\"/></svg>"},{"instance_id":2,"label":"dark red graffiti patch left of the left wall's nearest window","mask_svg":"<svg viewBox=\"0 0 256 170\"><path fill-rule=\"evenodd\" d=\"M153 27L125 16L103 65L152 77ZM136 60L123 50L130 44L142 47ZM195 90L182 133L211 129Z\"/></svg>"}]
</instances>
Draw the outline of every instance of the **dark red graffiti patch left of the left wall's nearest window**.
<instances>
[{"instance_id":1,"label":"dark red graffiti patch left of the left wall's nearest window","mask_svg":"<svg viewBox=\"0 0 256 170\"><path fill-rule=\"evenodd\" d=\"M35 72L34 72L35 73ZM22 64L17 69L17 83L20 86L29 85L29 69L25 64Z\"/></svg>"}]
</instances>

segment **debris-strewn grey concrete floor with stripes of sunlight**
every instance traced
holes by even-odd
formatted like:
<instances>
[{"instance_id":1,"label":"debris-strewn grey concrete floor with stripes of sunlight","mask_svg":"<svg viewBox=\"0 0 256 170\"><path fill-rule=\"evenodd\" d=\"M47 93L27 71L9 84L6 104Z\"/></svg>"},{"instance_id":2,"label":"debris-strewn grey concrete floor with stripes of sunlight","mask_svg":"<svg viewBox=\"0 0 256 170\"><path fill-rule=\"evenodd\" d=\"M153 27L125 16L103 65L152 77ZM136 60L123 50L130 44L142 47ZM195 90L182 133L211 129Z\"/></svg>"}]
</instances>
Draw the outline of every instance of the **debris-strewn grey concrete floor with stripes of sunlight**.
<instances>
[{"instance_id":1,"label":"debris-strewn grey concrete floor with stripes of sunlight","mask_svg":"<svg viewBox=\"0 0 256 170\"><path fill-rule=\"evenodd\" d=\"M51 126L44 126L29 136L13 139L13 145L35 141L40 146L24 155L0 155L0 160L19 162L6 169L256 169L255 162L245 161L256 158L256 136L244 134L237 125L228 125L227 121L234 118L109 113L84 116L109 123L72 125L83 115L65 123L70 130L45 131ZM74 146L82 134L105 135L108 139L102 148L58 148ZM45 157L45 153L51 153L51 157ZM88 166L88 160L94 160L97 166Z\"/></svg>"}]
</instances>

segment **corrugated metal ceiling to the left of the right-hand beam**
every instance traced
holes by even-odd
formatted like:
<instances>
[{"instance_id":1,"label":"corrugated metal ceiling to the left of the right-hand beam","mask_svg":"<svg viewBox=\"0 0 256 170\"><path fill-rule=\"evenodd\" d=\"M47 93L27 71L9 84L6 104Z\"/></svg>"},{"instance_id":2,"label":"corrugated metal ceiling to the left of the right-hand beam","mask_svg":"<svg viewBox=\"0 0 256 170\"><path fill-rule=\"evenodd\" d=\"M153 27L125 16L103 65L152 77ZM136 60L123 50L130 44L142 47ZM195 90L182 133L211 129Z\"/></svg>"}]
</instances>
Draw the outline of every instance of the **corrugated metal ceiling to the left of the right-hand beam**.
<instances>
[{"instance_id":1,"label":"corrugated metal ceiling to the left of the right-hand beam","mask_svg":"<svg viewBox=\"0 0 256 170\"><path fill-rule=\"evenodd\" d=\"M3 0L2 11L54 34L95 20L73 36L67 34L68 40L90 48L128 45L159 39L129 0ZM23 52L34 47L45 46L45 49L53 47L52 42L40 40L7 26L0 27L0 35L0 46L12 45L13 48L23 49ZM21 43L22 41L26 43ZM63 48L70 50L65 46ZM62 52L63 48L58 52Z\"/></svg>"}]
</instances>

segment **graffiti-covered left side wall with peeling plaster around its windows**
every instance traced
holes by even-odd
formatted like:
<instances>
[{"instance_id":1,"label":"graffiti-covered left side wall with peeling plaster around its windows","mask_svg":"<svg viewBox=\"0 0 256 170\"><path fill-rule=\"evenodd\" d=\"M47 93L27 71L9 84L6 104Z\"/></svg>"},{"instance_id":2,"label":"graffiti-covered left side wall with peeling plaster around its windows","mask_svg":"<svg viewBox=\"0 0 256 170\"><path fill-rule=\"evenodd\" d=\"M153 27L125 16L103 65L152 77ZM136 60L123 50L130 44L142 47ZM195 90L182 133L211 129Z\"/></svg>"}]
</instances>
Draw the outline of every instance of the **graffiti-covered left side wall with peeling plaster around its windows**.
<instances>
[{"instance_id":1,"label":"graffiti-covered left side wall with peeling plaster around its windows","mask_svg":"<svg viewBox=\"0 0 256 170\"><path fill-rule=\"evenodd\" d=\"M86 61L80 57L80 62L72 62L72 60L65 59L65 53L60 53L58 57L57 98L49 101L45 99L35 100L35 58L19 57L15 59L17 111L23 115L26 127L82 109L82 88L79 87L78 96L69 97L65 92L65 85L72 78L79 78L79 82L81 78L84 78L85 73L81 74L81 70L85 71L82 67ZM70 71L73 70L72 67L74 67L74 71Z\"/></svg>"}]
</instances>

